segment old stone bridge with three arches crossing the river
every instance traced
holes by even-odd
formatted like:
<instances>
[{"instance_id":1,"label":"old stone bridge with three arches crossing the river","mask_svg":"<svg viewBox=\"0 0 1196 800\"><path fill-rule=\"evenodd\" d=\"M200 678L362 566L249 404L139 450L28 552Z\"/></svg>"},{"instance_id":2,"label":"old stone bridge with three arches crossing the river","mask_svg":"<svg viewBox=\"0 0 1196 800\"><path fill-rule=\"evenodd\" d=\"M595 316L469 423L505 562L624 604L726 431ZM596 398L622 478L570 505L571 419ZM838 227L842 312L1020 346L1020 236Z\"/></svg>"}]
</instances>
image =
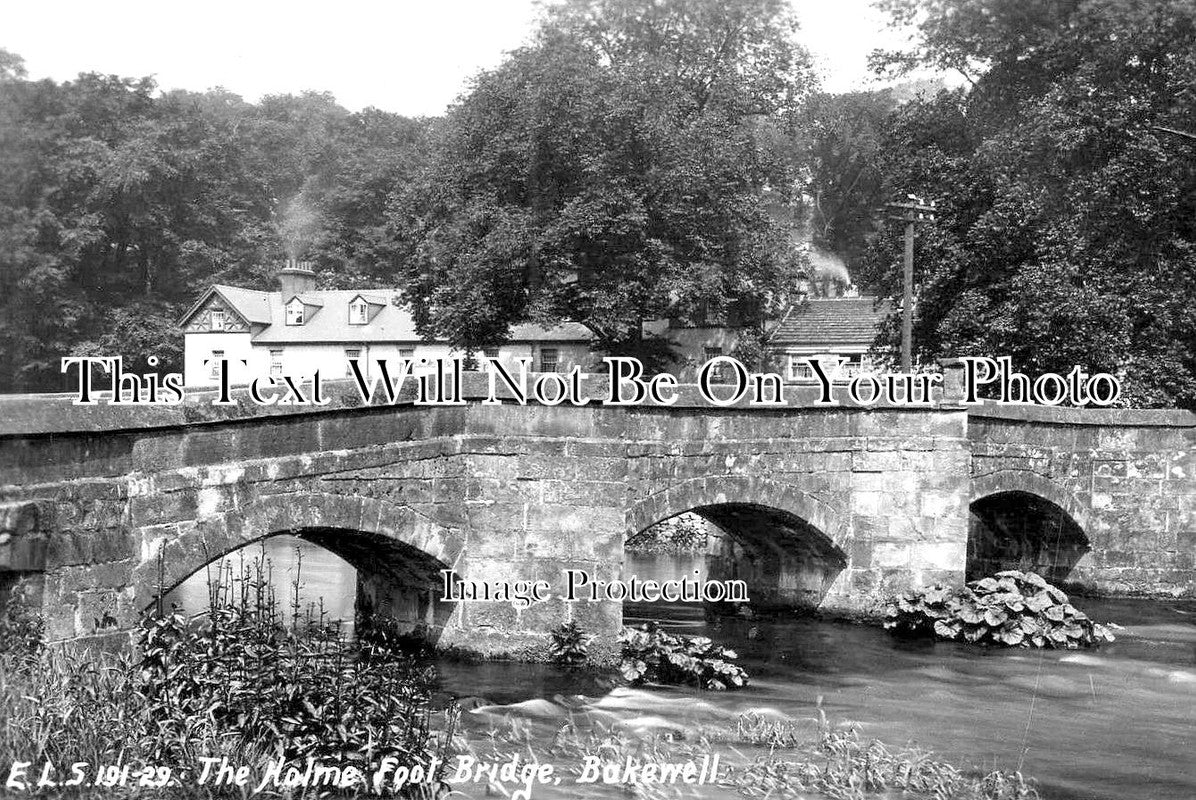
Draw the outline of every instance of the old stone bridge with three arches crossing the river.
<instances>
[{"instance_id":1,"label":"old stone bridge with three arches crossing the river","mask_svg":"<svg viewBox=\"0 0 1196 800\"><path fill-rule=\"evenodd\" d=\"M161 590L286 532L352 563L359 603L441 643L520 652L568 619L609 641L618 601L447 603L440 570L609 581L629 536L683 512L737 543L715 572L761 605L868 613L899 590L1008 567L1091 592L1196 594L1186 413L683 402L219 414L0 401L0 590L41 605L48 639L127 636Z\"/></svg>"}]
</instances>

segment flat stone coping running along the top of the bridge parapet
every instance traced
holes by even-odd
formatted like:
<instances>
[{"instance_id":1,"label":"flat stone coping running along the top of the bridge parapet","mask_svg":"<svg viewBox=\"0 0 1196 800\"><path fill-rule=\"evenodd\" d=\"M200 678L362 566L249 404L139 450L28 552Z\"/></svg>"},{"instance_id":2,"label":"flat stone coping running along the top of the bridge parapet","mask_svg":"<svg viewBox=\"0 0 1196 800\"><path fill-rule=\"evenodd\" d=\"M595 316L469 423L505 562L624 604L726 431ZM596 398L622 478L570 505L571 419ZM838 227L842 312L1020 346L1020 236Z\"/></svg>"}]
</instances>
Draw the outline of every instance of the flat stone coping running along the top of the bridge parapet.
<instances>
[{"instance_id":1,"label":"flat stone coping running along the top of the bridge parapet","mask_svg":"<svg viewBox=\"0 0 1196 800\"><path fill-rule=\"evenodd\" d=\"M535 375L533 375L535 377ZM826 411L877 410L877 411L927 411L942 410L950 413L966 411L969 416L986 420L1007 420L1055 425L1084 426L1119 426L1119 427L1165 427L1196 428L1196 414L1177 409L1081 409L1042 405L1001 405L984 403L982 405L960 405L958 402L935 398L933 404L903 405L895 403L875 403L871 405L853 404L846 396L837 397L836 405L819 404L818 387L814 385L786 384L783 405L750 405L746 401L732 405L712 405L701 396L694 384L677 387L678 401L672 405L657 405L645 402L639 405L610 407L599 403L606 397L608 379L605 375L593 375L582 379L582 396L591 398L590 408L624 408L634 410L670 411L679 409L702 408L710 414L751 410L759 414L777 414L792 410ZM187 425L228 422L242 419L264 416L291 416L297 414L343 413L347 409L362 407L354 381L324 381L324 395L329 401L325 405L257 405L249 399L245 387L234 387L232 405L213 405L216 391L210 387L188 387L184 390L187 401L173 405L133 405L112 404L105 393L97 393L99 402L93 405L78 405L74 393L48 395L0 395L0 436L30 436L71 433L99 433L117 430L144 430L153 428L176 428ZM475 404L487 397L488 378L480 373L465 373L462 396ZM499 391L498 397L509 401L508 391ZM408 385L393 404L403 408L415 407L414 385ZM390 403L378 401L373 408ZM529 404L533 404L529 402ZM437 408L426 405L425 408Z\"/></svg>"}]
</instances>

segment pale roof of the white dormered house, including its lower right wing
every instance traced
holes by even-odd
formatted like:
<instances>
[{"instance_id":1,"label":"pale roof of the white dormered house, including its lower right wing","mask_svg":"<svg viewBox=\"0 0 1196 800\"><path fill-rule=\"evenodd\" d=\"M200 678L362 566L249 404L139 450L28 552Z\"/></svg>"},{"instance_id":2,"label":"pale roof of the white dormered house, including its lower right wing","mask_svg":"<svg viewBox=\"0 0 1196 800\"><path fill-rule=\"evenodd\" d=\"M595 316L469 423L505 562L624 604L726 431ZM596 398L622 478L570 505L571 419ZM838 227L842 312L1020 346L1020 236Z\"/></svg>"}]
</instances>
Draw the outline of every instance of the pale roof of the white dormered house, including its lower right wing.
<instances>
[{"instance_id":1,"label":"pale roof of the white dormered house, including its lower right wing","mask_svg":"<svg viewBox=\"0 0 1196 800\"><path fill-rule=\"evenodd\" d=\"M234 286L213 286L200 298L179 325L187 325L191 316L214 292L248 322L264 328L252 335L255 343L301 344L317 342L414 342L421 343L415 331L415 319L405 306L390 301L391 289L324 289L304 292L299 297L309 306L303 325L286 324L285 305L289 297L281 292L257 292ZM358 295L382 307L365 325L349 324L349 301ZM315 310L312 310L315 307ZM539 325L515 325L511 329L514 342L588 342L592 334L578 323L562 323L551 329Z\"/></svg>"}]
</instances>

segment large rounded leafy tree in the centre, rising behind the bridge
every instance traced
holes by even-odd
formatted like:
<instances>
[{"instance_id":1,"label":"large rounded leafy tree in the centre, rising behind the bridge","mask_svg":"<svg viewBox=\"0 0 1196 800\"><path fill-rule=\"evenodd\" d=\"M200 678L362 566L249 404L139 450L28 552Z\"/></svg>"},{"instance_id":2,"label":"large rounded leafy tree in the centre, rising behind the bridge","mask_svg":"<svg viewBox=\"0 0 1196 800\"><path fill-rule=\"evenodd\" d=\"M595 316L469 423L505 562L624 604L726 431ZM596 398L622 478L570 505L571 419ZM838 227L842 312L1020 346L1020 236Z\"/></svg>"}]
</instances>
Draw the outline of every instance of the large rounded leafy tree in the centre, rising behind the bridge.
<instances>
[{"instance_id":1,"label":"large rounded leafy tree in the centre, rising behind the bridge","mask_svg":"<svg viewBox=\"0 0 1196 800\"><path fill-rule=\"evenodd\" d=\"M551 10L450 111L395 209L421 332L475 349L573 319L634 349L645 319L765 303L795 267L763 199L795 182L791 32L776 0Z\"/></svg>"}]
</instances>

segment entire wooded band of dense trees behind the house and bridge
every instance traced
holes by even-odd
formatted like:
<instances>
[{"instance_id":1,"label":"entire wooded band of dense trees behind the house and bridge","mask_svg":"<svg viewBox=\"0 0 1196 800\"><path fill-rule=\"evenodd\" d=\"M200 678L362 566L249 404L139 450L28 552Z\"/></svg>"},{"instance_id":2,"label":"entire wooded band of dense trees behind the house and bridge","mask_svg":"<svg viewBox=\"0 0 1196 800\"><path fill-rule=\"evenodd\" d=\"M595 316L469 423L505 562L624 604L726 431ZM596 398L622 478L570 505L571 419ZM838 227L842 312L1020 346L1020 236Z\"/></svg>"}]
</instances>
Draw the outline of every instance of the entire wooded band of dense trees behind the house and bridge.
<instances>
[{"instance_id":1,"label":"entire wooded band of dense trees behind the house and bridge","mask_svg":"<svg viewBox=\"0 0 1196 800\"><path fill-rule=\"evenodd\" d=\"M425 336L468 349L525 320L631 353L653 318L763 330L794 236L896 297L881 208L916 193L940 206L922 362L1080 365L1196 407L1196 5L879 5L916 45L878 69L965 85L818 93L782 0L565 0L434 121L33 81L0 50L0 391L61 387L72 353L177 368L196 294L267 287L288 256L399 287Z\"/></svg>"}]
</instances>

